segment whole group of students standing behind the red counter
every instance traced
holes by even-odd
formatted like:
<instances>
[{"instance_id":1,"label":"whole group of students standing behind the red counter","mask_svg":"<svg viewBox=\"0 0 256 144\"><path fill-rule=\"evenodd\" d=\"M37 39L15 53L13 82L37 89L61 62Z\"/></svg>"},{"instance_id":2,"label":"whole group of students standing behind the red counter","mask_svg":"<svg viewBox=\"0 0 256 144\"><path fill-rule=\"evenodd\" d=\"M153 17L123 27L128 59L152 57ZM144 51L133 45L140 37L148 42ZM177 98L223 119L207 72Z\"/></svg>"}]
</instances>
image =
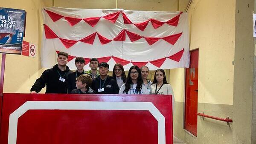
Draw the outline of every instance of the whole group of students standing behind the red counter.
<instances>
[{"instance_id":1,"label":"whole group of students standing behind the red counter","mask_svg":"<svg viewBox=\"0 0 256 144\"><path fill-rule=\"evenodd\" d=\"M172 86L167 83L163 69L155 71L154 81L151 82L147 80L149 74L147 66L141 68L131 66L126 77L123 66L116 63L113 67L113 75L109 76L108 63L99 63L96 58L90 59L91 70L87 72L84 71L84 58L76 58L75 72L66 66L67 60L68 54L59 52L58 64L42 73L30 89L30 93L38 93L46 85L46 93L173 95Z\"/></svg>"}]
</instances>

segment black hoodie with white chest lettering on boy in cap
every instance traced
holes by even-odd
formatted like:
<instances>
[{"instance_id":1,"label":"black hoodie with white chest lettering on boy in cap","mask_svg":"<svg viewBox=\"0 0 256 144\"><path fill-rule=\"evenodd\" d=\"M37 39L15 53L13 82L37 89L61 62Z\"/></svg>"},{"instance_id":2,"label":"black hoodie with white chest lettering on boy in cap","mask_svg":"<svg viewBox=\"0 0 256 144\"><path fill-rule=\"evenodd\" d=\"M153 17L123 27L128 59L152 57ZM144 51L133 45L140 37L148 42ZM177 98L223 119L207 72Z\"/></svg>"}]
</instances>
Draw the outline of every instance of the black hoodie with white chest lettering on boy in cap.
<instances>
[{"instance_id":1,"label":"black hoodie with white chest lettering on boy in cap","mask_svg":"<svg viewBox=\"0 0 256 144\"><path fill-rule=\"evenodd\" d=\"M100 75L97 76L95 79L93 79L93 83L92 83L92 89L98 94L118 94L119 92L119 87L116 83L116 81L113 79L113 77L111 76L107 76L106 82L104 84L104 86L102 86L104 88L104 92L98 92L98 89L100 88L100 83L99 81L101 81L101 84L103 85L104 81L102 81L102 79L100 78Z\"/></svg>"}]
</instances>

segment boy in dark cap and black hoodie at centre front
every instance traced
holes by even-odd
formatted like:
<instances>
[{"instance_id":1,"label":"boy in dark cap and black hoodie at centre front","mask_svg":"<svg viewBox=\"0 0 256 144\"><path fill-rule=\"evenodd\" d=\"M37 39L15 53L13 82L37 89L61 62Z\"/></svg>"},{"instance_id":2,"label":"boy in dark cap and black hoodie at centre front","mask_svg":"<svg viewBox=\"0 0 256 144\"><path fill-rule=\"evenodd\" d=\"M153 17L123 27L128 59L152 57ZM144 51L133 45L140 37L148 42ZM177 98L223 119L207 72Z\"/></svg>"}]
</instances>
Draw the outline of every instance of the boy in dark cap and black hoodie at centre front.
<instances>
[{"instance_id":1,"label":"boy in dark cap and black hoodie at centre front","mask_svg":"<svg viewBox=\"0 0 256 144\"><path fill-rule=\"evenodd\" d=\"M92 89L99 94L118 94L119 87L113 77L108 75L108 63L99 63L99 76L92 83Z\"/></svg>"}]
</instances>

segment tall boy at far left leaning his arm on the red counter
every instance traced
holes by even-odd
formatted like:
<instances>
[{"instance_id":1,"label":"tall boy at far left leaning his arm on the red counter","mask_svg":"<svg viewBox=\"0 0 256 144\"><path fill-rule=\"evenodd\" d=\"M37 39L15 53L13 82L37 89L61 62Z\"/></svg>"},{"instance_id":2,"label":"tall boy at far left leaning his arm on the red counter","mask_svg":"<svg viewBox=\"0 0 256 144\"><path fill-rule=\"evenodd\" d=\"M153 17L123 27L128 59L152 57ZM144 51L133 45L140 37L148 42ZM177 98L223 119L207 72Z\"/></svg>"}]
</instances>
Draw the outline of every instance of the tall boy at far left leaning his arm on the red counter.
<instances>
[{"instance_id":1,"label":"tall boy at far left leaning his arm on the red counter","mask_svg":"<svg viewBox=\"0 0 256 144\"><path fill-rule=\"evenodd\" d=\"M67 93L67 75L72 72L67 64L68 54L59 52L55 66L45 70L41 77L35 81L35 84L30 89L30 93L38 93L46 84L45 93Z\"/></svg>"}]
</instances>

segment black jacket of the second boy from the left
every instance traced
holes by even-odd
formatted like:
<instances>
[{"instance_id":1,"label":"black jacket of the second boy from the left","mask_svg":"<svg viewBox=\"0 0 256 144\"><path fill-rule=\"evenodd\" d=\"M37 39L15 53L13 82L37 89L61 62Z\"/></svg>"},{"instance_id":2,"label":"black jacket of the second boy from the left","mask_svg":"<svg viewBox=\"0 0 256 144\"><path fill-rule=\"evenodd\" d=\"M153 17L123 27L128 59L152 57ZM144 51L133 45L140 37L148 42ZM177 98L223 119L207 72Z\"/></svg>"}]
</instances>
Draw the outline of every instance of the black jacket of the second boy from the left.
<instances>
[{"instance_id":1,"label":"black jacket of the second boy from the left","mask_svg":"<svg viewBox=\"0 0 256 144\"><path fill-rule=\"evenodd\" d=\"M76 78L79 77L82 74L87 74L85 72L71 72L68 74L67 78L67 93L71 93L73 89L76 89ZM77 76L77 77L76 77Z\"/></svg>"}]
</instances>

